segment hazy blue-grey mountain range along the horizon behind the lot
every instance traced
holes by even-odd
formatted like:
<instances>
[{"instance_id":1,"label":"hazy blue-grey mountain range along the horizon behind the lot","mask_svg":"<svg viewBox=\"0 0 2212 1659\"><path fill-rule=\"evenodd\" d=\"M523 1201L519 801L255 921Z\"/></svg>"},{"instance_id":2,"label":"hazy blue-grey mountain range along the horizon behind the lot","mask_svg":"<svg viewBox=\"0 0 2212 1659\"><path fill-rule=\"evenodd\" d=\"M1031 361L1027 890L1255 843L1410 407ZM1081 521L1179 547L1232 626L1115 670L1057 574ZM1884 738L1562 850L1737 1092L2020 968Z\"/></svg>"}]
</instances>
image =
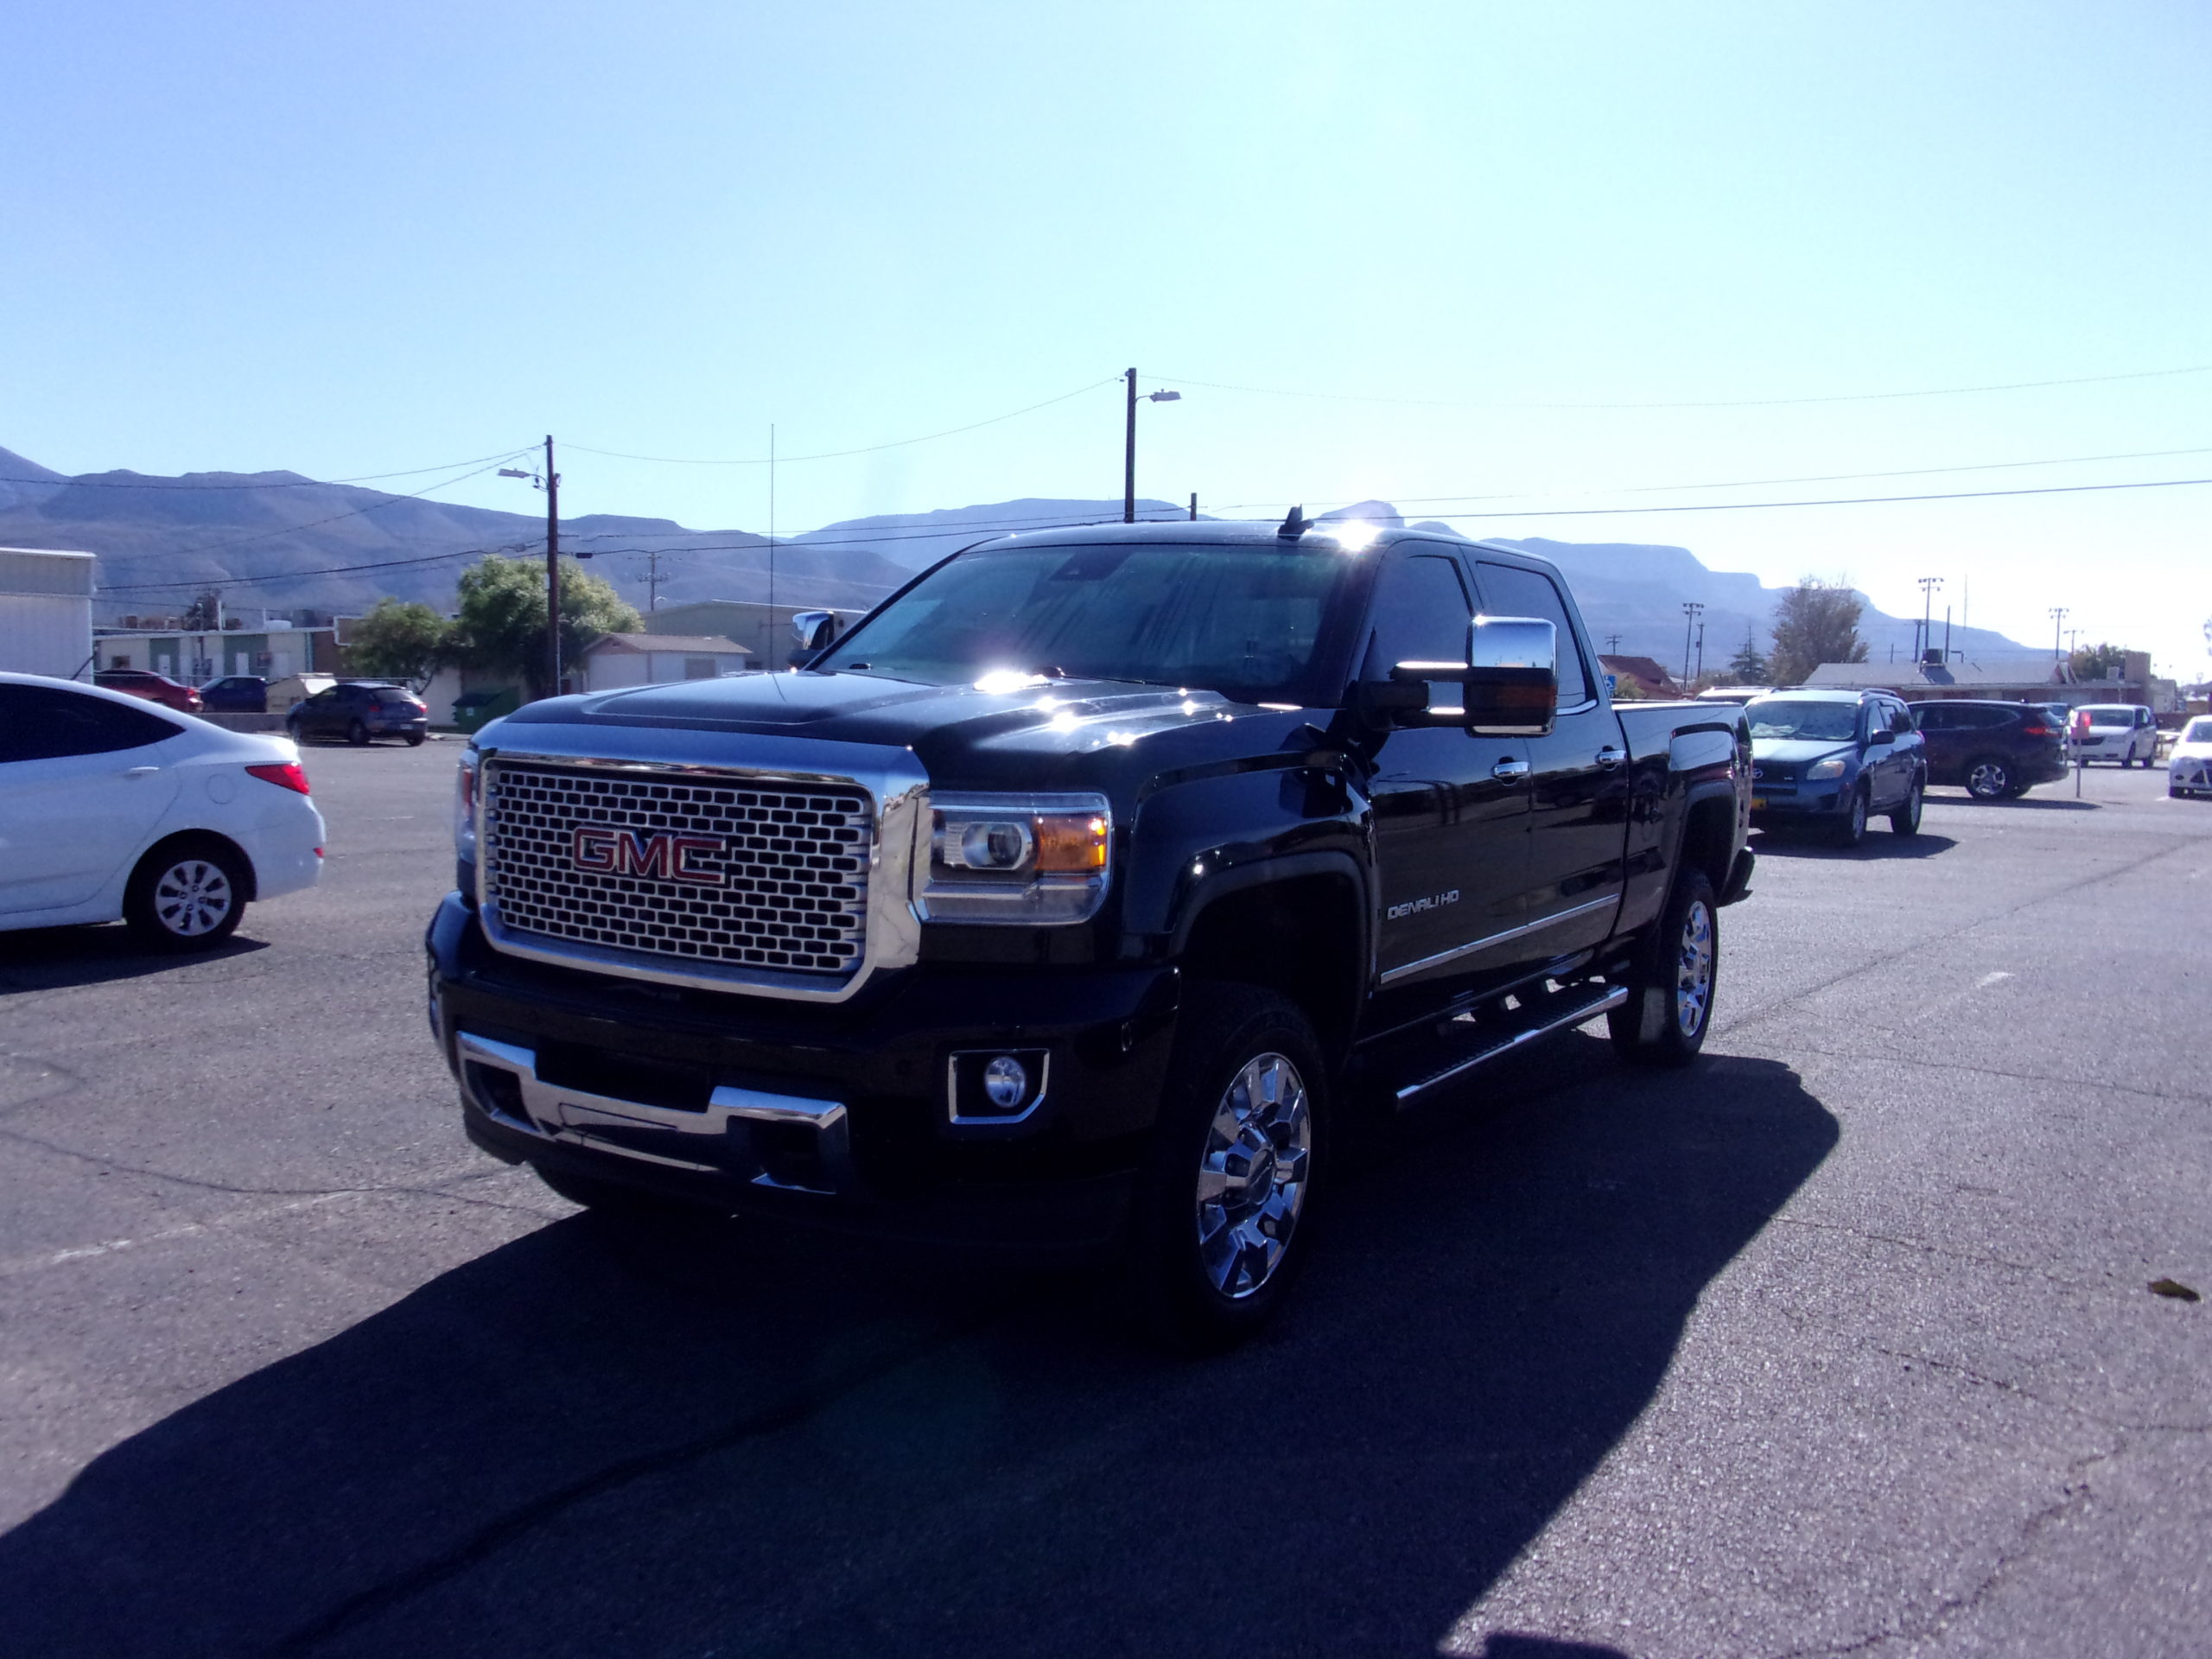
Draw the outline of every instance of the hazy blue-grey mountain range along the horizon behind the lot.
<instances>
[{"instance_id":1,"label":"hazy blue-grey mountain range along the horizon behind the lot","mask_svg":"<svg viewBox=\"0 0 2212 1659\"><path fill-rule=\"evenodd\" d=\"M1181 513L1170 502L1139 502L1141 518ZM1119 502L1022 498L841 520L776 538L770 546L757 531L692 531L666 518L588 513L562 520L562 551L591 553L591 568L639 611L650 604L655 564L661 604L765 599L772 580L779 604L865 608L914 571L982 535L1119 518ZM1405 522L1380 500L1329 518ZM1747 635L1767 648L1783 588L1763 586L1754 575L1708 571L1681 546L1500 540L1566 573L1601 650L1655 657L1679 672L1683 602L1705 606L1708 668L1723 666ZM451 507L290 471L64 476L0 449L0 546L97 553L102 622L131 613L175 615L208 584L223 584L241 606L272 611L358 613L387 593L447 611L453 580L471 560L540 553L544 515ZM1891 653L1907 659L1916 626L1911 617L1891 617L1869 604L1860 635L1874 661ZM1978 659L2035 650L1986 628L1953 628L1951 644ZM1694 637L1690 655L1694 666Z\"/></svg>"}]
</instances>

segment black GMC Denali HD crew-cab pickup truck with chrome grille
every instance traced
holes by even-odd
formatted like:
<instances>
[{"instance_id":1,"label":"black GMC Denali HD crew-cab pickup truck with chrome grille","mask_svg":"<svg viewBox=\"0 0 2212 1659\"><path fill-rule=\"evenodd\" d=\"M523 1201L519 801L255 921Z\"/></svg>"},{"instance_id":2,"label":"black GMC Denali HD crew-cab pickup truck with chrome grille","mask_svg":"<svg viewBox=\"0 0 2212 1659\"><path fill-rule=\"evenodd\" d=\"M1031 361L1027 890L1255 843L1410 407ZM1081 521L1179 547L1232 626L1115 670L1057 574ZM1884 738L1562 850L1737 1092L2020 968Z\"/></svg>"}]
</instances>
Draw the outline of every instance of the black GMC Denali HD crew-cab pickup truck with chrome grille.
<instances>
[{"instance_id":1,"label":"black GMC Denali HD crew-cab pickup truck with chrome grille","mask_svg":"<svg viewBox=\"0 0 2212 1659\"><path fill-rule=\"evenodd\" d=\"M1613 706L1557 571L1369 524L1006 535L796 672L478 732L429 1018L586 1206L1117 1248L1259 1325L1345 1144L1606 1015L1688 1064L1734 706Z\"/></svg>"}]
</instances>

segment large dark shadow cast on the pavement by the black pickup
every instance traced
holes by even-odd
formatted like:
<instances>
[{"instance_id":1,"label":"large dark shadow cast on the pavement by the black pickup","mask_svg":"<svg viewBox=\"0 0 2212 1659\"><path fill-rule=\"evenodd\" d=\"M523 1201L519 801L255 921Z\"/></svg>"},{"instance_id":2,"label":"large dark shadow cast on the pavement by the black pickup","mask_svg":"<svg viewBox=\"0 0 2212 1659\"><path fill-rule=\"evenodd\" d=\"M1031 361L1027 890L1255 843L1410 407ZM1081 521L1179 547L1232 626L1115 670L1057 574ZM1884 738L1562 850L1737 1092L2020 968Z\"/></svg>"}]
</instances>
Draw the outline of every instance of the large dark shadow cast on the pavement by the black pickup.
<instances>
[{"instance_id":1,"label":"large dark shadow cast on the pavement by the black pickup","mask_svg":"<svg viewBox=\"0 0 2212 1659\"><path fill-rule=\"evenodd\" d=\"M9 1646L1429 1655L1836 1137L1776 1062L1568 1037L1402 1121L1206 1360L1095 1274L555 1221L93 1460L0 1537Z\"/></svg>"}]
</instances>

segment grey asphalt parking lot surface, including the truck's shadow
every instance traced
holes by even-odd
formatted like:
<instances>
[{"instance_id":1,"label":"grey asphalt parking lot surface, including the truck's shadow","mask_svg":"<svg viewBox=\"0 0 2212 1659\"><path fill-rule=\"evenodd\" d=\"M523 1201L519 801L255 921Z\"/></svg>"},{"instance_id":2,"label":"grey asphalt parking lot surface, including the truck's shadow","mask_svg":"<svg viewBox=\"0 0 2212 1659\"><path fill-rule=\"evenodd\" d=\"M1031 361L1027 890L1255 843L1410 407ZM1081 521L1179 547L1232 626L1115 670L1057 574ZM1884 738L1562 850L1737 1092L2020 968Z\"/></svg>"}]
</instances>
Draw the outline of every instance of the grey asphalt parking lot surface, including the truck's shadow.
<instances>
[{"instance_id":1,"label":"grey asphalt parking lot surface, including the truck's shadow","mask_svg":"<svg viewBox=\"0 0 2212 1659\"><path fill-rule=\"evenodd\" d=\"M1407 1121L1285 1325L608 1234L422 1024L453 743L212 958L0 936L0 1648L2201 1655L2212 803L1763 838L1708 1060Z\"/></svg>"}]
</instances>

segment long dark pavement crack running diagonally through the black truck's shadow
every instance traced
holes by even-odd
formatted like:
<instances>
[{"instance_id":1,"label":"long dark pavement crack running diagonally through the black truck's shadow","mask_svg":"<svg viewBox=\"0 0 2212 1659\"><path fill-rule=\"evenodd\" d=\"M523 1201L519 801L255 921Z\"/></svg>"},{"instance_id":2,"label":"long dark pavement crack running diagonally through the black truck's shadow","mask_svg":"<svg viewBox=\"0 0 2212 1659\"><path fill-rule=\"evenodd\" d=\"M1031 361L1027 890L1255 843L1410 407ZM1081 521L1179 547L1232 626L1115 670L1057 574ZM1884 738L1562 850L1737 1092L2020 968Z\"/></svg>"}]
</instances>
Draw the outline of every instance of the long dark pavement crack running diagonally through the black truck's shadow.
<instances>
[{"instance_id":1,"label":"long dark pavement crack running diagonally through the black truck's shadow","mask_svg":"<svg viewBox=\"0 0 2212 1659\"><path fill-rule=\"evenodd\" d=\"M290 1632L270 1644L265 1652L272 1655L272 1659L276 1659L279 1655L305 1655L319 1644L330 1641L332 1637L341 1637L347 1630L356 1630L358 1626L367 1624L380 1613L396 1608L403 1601L422 1595L425 1590L431 1590L445 1584L447 1579L458 1577L460 1573L467 1573L478 1562L498 1555L509 1544L526 1537L529 1533L553 1520L560 1520L580 1504L588 1504L593 1498L604 1498L606 1493L619 1491L630 1482L648 1480L653 1475L681 1469L684 1464L697 1462L699 1458L710 1458L719 1451L730 1451L732 1447L741 1447L748 1440L763 1440L772 1433L796 1429L807 1418L834 1405L843 1396L854 1394L867 1387L869 1383L878 1383L887 1376L894 1376L896 1371L914 1365L916 1360L925 1360L931 1354L938 1354L956 1343L962 1343L980 1334L989 1325L993 1325L998 1318L1000 1314L991 1312L971 1321L962 1321L925 1340L907 1343L902 1347L894 1347L885 1354L878 1354L869 1360L858 1360L854 1365L847 1365L836 1376L825 1378L812 1387L794 1389L785 1398L765 1405L757 1411L737 1416L730 1422L721 1425L719 1429L710 1429L708 1433L681 1440L672 1447L661 1447L657 1451L641 1451L633 1458L622 1458L608 1464L606 1469L599 1469L597 1473L582 1475L562 1486L555 1486L553 1491L540 1493L538 1498L509 1509L504 1515L495 1515L493 1520L484 1522L467 1540L445 1551L442 1555L422 1562L418 1566L411 1566L403 1573L394 1573L380 1584L372 1584L365 1590L345 1597L325 1613L307 1619L305 1624L294 1626Z\"/></svg>"}]
</instances>

